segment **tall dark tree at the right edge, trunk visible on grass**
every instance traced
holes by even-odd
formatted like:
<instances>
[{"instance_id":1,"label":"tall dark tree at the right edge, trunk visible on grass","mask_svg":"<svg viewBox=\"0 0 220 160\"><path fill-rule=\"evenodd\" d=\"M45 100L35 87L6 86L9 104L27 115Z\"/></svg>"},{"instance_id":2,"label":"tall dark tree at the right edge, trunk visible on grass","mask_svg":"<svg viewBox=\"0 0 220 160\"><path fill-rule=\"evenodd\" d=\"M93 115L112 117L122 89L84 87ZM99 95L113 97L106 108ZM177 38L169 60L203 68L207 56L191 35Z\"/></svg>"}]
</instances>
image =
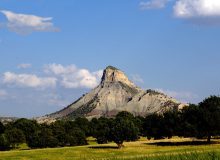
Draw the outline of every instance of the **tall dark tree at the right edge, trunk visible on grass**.
<instances>
[{"instance_id":1,"label":"tall dark tree at the right edge, trunk visible on grass","mask_svg":"<svg viewBox=\"0 0 220 160\"><path fill-rule=\"evenodd\" d=\"M207 137L207 142L211 142L211 137L220 134L220 97L210 96L199 103L198 131L202 136Z\"/></svg>"}]
</instances>

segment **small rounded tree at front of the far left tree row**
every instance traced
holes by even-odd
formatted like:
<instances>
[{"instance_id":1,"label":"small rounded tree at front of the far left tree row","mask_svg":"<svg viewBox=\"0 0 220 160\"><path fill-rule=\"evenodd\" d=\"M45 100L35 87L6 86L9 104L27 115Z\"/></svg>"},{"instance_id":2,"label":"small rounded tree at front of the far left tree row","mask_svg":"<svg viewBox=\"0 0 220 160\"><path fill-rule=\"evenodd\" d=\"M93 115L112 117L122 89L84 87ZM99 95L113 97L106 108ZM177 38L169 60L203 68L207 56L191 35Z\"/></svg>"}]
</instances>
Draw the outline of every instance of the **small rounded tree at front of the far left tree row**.
<instances>
[{"instance_id":1,"label":"small rounded tree at front of the far left tree row","mask_svg":"<svg viewBox=\"0 0 220 160\"><path fill-rule=\"evenodd\" d=\"M13 128L5 131L5 136L12 148L16 148L19 144L25 142L25 135L22 130Z\"/></svg>"}]
</instances>

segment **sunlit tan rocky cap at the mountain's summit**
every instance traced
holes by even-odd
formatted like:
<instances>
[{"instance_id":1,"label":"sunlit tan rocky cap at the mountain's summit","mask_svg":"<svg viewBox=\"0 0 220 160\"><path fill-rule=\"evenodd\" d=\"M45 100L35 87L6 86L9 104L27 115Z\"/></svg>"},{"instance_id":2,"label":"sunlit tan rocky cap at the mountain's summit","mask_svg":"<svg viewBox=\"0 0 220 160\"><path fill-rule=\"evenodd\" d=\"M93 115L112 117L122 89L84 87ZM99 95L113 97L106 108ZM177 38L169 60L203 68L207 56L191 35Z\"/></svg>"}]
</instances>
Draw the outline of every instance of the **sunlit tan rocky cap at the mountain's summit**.
<instances>
[{"instance_id":1,"label":"sunlit tan rocky cap at the mountain's summit","mask_svg":"<svg viewBox=\"0 0 220 160\"><path fill-rule=\"evenodd\" d=\"M128 77L119 69L108 66L102 76L102 84L103 83L114 83L114 82L121 82L130 87L135 87L135 85L128 79Z\"/></svg>"}]
</instances>

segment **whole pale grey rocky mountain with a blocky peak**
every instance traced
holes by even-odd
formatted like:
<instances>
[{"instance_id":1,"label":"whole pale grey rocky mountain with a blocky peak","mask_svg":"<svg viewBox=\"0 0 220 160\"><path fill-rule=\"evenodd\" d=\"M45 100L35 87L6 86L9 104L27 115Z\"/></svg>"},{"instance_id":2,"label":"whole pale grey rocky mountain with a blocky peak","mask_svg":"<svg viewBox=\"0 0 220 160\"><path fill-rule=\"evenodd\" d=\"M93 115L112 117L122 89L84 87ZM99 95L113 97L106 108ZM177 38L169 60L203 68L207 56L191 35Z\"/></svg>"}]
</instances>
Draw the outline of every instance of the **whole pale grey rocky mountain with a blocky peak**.
<instances>
[{"instance_id":1,"label":"whole pale grey rocky mountain with a blocky peak","mask_svg":"<svg viewBox=\"0 0 220 160\"><path fill-rule=\"evenodd\" d=\"M66 108L37 120L52 122L62 118L113 117L120 111L144 116L178 109L183 105L163 93L150 89L142 90L131 82L122 71L109 66L103 72L101 83L90 93L83 95Z\"/></svg>"}]
</instances>

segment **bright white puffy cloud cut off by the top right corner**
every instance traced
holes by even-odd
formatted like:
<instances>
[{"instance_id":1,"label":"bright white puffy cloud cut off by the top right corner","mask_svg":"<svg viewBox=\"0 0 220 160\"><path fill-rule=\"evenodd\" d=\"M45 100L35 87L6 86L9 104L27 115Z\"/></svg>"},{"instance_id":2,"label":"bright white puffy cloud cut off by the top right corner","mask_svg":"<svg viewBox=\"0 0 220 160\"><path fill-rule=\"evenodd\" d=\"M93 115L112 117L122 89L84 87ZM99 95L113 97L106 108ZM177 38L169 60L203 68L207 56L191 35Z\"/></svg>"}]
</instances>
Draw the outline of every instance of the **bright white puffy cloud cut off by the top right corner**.
<instances>
[{"instance_id":1,"label":"bright white puffy cloud cut off by the top right corner","mask_svg":"<svg viewBox=\"0 0 220 160\"><path fill-rule=\"evenodd\" d=\"M177 0L174 14L179 18L220 16L220 0Z\"/></svg>"}]
</instances>

